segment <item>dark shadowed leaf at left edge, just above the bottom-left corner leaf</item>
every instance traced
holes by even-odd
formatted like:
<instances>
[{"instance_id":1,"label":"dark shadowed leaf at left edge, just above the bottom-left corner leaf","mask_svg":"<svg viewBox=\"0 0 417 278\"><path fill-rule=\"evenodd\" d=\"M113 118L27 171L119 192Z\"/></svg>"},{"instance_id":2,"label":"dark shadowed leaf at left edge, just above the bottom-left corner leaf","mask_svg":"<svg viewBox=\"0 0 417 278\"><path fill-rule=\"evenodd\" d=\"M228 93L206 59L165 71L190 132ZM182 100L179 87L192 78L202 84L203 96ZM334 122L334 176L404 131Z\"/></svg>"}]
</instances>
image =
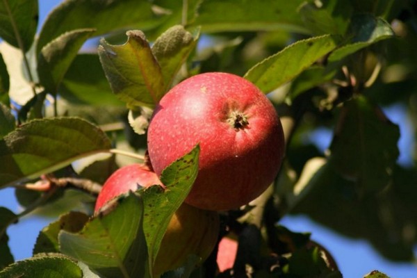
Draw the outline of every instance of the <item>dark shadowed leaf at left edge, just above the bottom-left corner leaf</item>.
<instances>
[{"instance_id":1,"label":"dark shadowed leaf at left edge, just above the bottom-left corner leaf","mask_svg":"<svg viewBox=\"0 0 417 278\"><path fill-rule=\"evenodd\" d=\"M15 220L17 220L15 213L0 206L0 270L15 261L8 247L8 236L6 234L6 229Z\"/></svg>"}]
</instances>

